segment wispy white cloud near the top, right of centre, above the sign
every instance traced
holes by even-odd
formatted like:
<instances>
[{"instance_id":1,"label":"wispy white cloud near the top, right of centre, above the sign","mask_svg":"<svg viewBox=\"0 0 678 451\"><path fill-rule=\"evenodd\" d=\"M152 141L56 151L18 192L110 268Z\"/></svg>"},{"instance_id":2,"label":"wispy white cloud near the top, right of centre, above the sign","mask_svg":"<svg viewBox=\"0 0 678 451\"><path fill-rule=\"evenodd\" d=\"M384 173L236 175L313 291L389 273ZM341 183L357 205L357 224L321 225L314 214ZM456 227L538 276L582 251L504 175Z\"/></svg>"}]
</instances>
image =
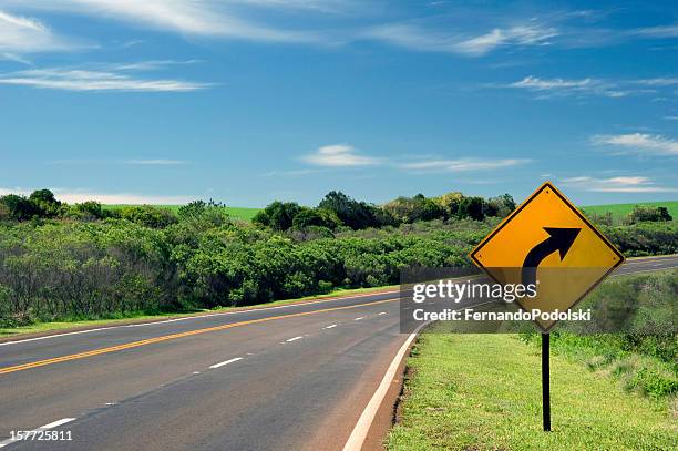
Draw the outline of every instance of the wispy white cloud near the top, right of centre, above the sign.
<instances>
[{"instance_id":1,"label":"wispy white cloud near the top, right of centre, above the sign","mask_svg":"<svg viewBox=\"0 0 678 451\"><path fill-rule=\"evenodd\" d=\"M557 31L530 24L495 28L485 34L462 37L408 23L391 23L373 27L362 35L411 50L480 57L501 45L543 45L549 38L557 35Z\"/></svg>"}]
</instances>

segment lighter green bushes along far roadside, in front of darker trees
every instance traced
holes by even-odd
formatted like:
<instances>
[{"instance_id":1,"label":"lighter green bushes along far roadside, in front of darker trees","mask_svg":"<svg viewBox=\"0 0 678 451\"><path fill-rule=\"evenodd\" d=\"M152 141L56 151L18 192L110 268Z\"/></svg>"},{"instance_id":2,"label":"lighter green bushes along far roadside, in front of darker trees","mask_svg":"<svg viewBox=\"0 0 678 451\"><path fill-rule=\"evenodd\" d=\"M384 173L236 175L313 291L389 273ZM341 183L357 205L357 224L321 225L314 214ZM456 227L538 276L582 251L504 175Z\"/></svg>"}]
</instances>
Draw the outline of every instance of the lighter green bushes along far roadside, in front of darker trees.
<instances>
[{"instance_id":1,"label":"lighter green bushes along far roadside, in front of darker trees","mask_svg":"<svg viewBox=\"0 0 678 451\"><path fill-rule=\"evenodd\" d=\"M233 223L205 203L182 207L164 228L124 218L4 223L0 322L243 306L397 284L402 267L466 265L491 226L462 221L454 229L297 240Z\"/></svg>"}]
</instances>

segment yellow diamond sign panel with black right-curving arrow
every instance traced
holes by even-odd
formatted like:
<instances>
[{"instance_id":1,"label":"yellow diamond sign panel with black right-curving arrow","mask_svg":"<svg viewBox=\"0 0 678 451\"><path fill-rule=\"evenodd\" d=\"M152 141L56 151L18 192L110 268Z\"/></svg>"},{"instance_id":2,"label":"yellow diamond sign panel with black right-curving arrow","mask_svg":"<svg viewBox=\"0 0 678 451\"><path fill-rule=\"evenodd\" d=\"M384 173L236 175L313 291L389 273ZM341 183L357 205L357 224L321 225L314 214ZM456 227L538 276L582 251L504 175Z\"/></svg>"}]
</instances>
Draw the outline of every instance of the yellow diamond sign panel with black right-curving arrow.
<instances>
[{"instance_id":1,"label":"yellow diamond sign panel with black right-curving arrow","mask_svg":"<svg viewBox=\"0 0 678 451\"><path fill-rule=\"evenodd\" d=\"M624 256L549 182L544 183L469 255L500 284L537 283L516 303L566 311L624 263ZM549 330L556 321L537 319Z\"/></svg>"}]
</instances>

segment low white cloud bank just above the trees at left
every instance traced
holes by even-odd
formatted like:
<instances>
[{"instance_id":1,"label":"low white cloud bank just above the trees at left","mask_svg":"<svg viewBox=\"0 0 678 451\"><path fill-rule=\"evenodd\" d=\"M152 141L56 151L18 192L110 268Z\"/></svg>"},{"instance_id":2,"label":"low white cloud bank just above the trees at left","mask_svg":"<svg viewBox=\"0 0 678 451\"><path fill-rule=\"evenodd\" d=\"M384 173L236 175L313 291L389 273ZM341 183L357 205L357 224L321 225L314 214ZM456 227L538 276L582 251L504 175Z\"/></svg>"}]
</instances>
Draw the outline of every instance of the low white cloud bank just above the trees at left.
<instances>
[{"instance_id":1,"label":"low white cloud bank just above the trees at left","mask_svg":"<svg viewBox=\"0 0 678 451\"><path fill-rule=\"evenodd\" d=\"M62 202L75 204L86 201L96 201L102 204L155 204L155 205L177 205L187 204L195 201L199 196L148 196L145 194L134 193L101 193L86 189L69 189L69 188L50 188L54 196ZM0 187L0 196L7 194L29 195L34 189L32 188L2 188Z\"/></svg>"}]
</instances>

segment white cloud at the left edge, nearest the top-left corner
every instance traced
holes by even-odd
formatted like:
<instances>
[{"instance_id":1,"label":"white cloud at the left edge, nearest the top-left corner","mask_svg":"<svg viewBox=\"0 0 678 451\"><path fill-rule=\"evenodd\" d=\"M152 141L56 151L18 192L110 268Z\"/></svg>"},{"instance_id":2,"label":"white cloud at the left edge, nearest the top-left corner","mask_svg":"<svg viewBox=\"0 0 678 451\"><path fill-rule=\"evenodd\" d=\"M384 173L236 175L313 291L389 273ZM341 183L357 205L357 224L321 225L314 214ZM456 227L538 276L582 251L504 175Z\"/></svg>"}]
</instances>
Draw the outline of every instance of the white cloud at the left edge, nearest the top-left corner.
<instances>
[{"instance_id":1,"label":"white cloud at the left edge, nearest the top-left corner","mask_svg":"<svg viewBox=\"0 0 678 451\"><path fill-rule=\"evenodd\" d=\"M73 42L54 34L35 19L0 11L0 54L6 59L20 59L17 53L70 50L73 47Z\"/></svg>"}]
</instances>

